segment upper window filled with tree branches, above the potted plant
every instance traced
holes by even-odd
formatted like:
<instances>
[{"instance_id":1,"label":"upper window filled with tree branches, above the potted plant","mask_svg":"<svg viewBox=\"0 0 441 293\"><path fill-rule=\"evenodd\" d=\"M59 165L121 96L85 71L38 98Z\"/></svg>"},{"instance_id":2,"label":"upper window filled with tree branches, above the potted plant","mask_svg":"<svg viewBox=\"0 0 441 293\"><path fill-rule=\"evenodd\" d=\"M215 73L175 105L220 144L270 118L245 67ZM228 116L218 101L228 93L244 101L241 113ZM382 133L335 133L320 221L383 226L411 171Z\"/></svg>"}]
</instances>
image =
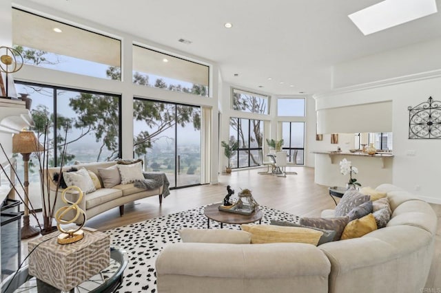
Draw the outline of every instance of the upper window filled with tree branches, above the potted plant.
<instances>
[{"instance_id":1,"label":"upper window filled with tree branches, above the potted plant","mask_svg":"<svg viewBox=\"0 0 441 293\"><path fill-rule=\"evenodd\" d=\"M268 114L268 96L232 89L232 109L248 113Z\"/></svg>"}]
</instances>

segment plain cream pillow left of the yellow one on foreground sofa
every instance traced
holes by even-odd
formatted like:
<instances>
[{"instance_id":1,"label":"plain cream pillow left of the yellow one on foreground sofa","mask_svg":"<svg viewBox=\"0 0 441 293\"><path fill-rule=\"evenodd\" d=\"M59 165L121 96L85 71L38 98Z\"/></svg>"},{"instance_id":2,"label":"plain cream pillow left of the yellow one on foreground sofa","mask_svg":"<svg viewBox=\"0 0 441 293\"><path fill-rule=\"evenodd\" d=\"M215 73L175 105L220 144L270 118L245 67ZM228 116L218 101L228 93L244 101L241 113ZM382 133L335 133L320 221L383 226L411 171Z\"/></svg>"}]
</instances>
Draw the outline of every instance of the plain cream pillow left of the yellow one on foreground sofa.
<instances>
[{"instance_id":1,"label":"plain cream pillow left of the yellow one on foreground sofa","mask_svg":"<svg viewBox=\"0 0 441 293\"><path fill-rule=\"evenodd\" d=\"M251 243L251 233L240 230L184 228L178 232L183 242Z\"/></svg>"}]
</instances>

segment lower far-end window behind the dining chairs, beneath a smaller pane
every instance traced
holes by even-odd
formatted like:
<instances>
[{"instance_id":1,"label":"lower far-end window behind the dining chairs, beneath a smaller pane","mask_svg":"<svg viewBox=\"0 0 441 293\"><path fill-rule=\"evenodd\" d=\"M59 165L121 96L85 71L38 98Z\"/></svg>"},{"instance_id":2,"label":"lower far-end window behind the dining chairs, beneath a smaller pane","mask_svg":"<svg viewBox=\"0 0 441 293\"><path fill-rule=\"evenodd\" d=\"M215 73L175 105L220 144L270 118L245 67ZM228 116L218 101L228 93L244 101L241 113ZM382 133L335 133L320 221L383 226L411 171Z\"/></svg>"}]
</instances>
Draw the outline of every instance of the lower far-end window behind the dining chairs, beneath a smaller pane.
<instances>
[{"instance_id":1,"label":"lower far-end window behind the dining chairs, beneath a smaller pane","mask_svg":"<svg viewBox=\"0 0 441 293\"><path fill-rule=\"evenodd\" d=\"M305 164L305 123L282 122L283 147L289 156L289 162Z\"/></svg>"}]
</instances>

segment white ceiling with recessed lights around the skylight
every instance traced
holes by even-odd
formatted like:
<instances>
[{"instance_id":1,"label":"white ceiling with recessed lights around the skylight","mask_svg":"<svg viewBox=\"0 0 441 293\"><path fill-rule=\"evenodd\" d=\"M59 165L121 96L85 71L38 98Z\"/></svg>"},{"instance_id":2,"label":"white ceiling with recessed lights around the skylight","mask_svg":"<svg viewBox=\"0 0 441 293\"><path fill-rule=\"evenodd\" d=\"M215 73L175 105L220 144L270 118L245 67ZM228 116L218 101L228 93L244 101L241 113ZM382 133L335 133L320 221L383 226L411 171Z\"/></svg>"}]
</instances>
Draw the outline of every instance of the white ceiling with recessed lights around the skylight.
<instances>
[{"instance_id":1,"label":"white ceiling with recessed lights around the skylight","mask_svg":"<svg viewBox=\"0 0 441 293\"><path fill-rule=\"evenodd\" d=\"M215 61L225 82L280 95L328 91L333 65L441 36L440 12L364 36L347 15L379 0L30 1Z\"/></svg>"}]
</instances>

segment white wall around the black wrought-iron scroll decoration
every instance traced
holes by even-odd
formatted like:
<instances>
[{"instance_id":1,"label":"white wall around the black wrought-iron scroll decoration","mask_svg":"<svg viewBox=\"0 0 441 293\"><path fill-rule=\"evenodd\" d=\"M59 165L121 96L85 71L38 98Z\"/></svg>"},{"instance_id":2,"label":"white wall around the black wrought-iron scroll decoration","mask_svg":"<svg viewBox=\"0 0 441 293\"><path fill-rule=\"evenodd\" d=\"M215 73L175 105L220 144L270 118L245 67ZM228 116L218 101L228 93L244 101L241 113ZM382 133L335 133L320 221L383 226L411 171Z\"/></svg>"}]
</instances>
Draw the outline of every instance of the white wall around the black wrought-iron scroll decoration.
<instances>
[{"instance_id":1,"label":"white wall around the black wrought-iron scroll decoration","mask_svg":"<svg viewBox=\"0 0 441 293\"><path fill-rule=\"evenodd\" d=\"M419 195L429 202L441 203L438 185L441 166L441 140L409 140L409 111L426 102L429 96L441 100L441 76L416 78L391 85L378 85L367 89L336 91L316 99L317 109L345 106L373 100L392 100L393 107L393 175L392 183ZM371 113L376 119L376 113ZM369 123L368 121L365 121ZM409 151L415 155L409 155Z\"/></svg>"}]
</instances>

